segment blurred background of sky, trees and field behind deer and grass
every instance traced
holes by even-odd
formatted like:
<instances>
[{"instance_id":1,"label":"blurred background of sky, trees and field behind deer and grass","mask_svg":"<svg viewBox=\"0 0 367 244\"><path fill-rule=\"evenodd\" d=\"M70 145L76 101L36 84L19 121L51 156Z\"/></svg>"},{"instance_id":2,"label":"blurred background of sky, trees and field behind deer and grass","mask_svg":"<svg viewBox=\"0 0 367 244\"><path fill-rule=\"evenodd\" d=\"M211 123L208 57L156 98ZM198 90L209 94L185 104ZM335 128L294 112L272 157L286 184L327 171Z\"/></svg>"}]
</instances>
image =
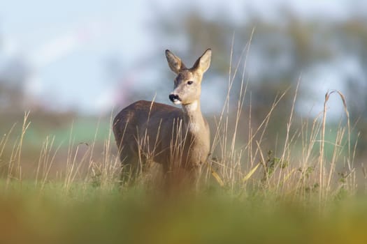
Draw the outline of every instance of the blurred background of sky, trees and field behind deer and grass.
<instances>
[{"instance_id":1,"label":"blurred background of sky, trees and field behind deer and grass","mask_svg":"<svg viewBox=\"0 0 367 244\"><path fill-rule=\"evenodd\" d=\"M296 118L314 119L322 112L325 93L337 89L347 100L354 136L361 132L357 155L363 162L364 0L1 1L1 135L15 123L21 126L24 111L30 111L25 137L30 152L47 135L55 135L55 144L67 142L71 125L76 142L105 138L110 117L130 102L155 98L169 103L174 75L165 49L187 66L206 48L213 49L201 97L203 112L213 118L226 98L232 46L234 68L250 39L244 109L251 108L254 126L275 97L290 88L266 135L269 140L278 138L279 128L285 130L289 119L298 81ZM231 102L236 109L240 82L233 86ZM331 126L345 121L338 96L331 96L328 107Z\"/></svg>"}]
</instances>

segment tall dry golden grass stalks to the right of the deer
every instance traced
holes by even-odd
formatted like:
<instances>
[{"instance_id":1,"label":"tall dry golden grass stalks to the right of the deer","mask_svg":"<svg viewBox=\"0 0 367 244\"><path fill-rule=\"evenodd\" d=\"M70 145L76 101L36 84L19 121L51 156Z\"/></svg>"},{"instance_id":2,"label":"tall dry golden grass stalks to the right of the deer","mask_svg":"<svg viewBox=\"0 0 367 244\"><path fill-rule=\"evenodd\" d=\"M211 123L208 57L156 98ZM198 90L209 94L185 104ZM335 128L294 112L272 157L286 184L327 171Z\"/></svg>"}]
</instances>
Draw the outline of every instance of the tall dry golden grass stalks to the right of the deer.
<instances>
[{"instance_id":1,"label":"tall dry golden grass stalks to the right of the deer","mask_svg":"<svg viewBox=\"0 0 367 244\"><path fill-rule=\"evenodd\" d=\"M298 201L317 199L320 204L325 204L343 194L353 195L357 190L357 174L354 166L357 139L352 141L350 118L343 93L335 90L327 91L324 110L319 116L315 119L303 119L301 124L294 123L296 116L294 109L299 84L302 82L300 76L296 87L293 89L289 87L275 97L273 104L269 106L268 114L257 127L252 123L251 105L247 116L241 116L247 96L246 57L250 52L251 39L252 36L243 48L236 66L231 68L230 64L226 100L220 116L215 120L216 128L211 152L213 155L216 153L216 156L210 161L206 179L211 173L217 183L235 195L248 195L256 191L263 196L291 197ZM233 43L231 49L233 50ZM232 56L231 53L231 63ZM229 98L233 83L238 80L240 86L236 87L240 87L240 91L236 98L237 105L233 108ZM277 144L273 145L275 150L270 151L264 146L270 119L285 94L292 91L294 99L289 119L287 124L279 128L284 130L285 136L282 141L278 140ZM326 140L327 103L329 97L333 95L340 97L345 119L338 125L335 141L329 142ZM232 123L229 122L233 118ZM247 125L248 128L241 128L241 125ZM236 143L239 130L248 131L245 144ZM269 134L275 135L275 133ZM329 149L331 148L331 157L326 156L326 144ZM339 171L341 168L343 171Z\"/></svg>"}]
</instances>

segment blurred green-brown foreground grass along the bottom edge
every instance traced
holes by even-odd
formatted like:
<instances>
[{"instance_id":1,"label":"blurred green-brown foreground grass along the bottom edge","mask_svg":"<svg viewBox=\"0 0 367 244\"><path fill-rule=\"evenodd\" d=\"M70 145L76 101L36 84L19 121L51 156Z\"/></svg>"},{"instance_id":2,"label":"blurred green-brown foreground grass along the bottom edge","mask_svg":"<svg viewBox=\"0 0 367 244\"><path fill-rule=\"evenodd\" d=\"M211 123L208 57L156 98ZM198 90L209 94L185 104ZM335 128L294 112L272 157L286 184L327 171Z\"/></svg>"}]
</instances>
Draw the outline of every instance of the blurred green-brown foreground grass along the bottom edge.
<instances>
[{"instance_id":1,"label":"blurred green-brown foreground grass along the bottom edge","mask_svg":"<svg viewBox=\"0 0 367 244\"><path fill-rule=\"evenodd\" d=\"M224 190L165 195L1 182L0 243L366 243L367 199L301 204Z\"/></svg>"}]
</instances>

